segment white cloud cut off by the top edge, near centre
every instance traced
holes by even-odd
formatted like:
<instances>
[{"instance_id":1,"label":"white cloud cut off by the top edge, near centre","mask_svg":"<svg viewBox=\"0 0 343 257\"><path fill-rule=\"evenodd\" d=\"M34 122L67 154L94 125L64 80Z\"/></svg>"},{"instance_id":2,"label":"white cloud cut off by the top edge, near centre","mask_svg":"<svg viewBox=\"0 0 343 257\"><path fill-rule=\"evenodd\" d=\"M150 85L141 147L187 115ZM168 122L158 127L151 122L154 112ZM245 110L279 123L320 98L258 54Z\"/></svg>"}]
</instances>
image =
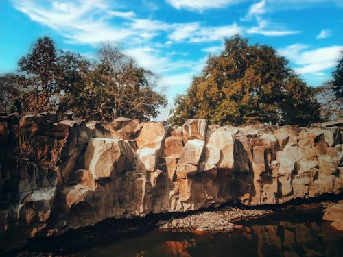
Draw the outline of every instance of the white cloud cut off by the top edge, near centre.
<instances>
[{"instance_id":1,"label":"white cloud cut off by the top edge, near centre","mask_svg":"<svg viewBox=\"0 0 343 257\"><path fill-rule=\"evenodd\" d=\"M167 0L167 3L176 9L204 10L222 8L233 3L240 3L241 1L242 0Z\"/></svg>"}]
</instances>

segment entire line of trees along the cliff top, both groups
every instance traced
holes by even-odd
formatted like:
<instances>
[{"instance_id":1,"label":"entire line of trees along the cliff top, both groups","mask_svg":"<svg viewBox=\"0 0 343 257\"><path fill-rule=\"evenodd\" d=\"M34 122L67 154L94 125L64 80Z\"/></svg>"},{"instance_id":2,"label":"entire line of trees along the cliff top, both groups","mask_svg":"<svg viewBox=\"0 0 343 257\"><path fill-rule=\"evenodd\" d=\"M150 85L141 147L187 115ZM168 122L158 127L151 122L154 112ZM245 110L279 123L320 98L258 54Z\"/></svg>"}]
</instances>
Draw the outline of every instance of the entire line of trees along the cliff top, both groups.
<instances>
[{"instance_id":1,"label":"entire line of trees along the cliff top, both groups","mask_svg":"<svg viewBox=\"0 0 343 257\"><path fill-rule=\"evenodd\" d=\"M49 37L38 38L18 64L17 73L0 77L0 109L7 112L73 112L75 118L146 121L167 104L165 96L153 90L155 73L110 44L89 60L56 50ZM169 123L198 118L220 125L309 125L342 119L342 84L343 56L332 79L312 88L275 49L249 45L236 35L225 40L222 53L208 57L187 93L174 99Z\"/></svg>"}]
</instances>

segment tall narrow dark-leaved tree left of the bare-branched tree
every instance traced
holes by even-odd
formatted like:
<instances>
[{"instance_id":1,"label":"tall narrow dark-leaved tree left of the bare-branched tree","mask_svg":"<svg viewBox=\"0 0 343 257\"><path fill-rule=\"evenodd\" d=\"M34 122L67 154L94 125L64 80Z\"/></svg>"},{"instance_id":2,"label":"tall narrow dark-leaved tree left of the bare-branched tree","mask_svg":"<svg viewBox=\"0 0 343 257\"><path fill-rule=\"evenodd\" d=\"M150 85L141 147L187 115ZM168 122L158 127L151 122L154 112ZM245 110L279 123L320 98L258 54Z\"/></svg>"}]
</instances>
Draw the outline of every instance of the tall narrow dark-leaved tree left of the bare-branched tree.
<instances>
[{"instance_id":1,"label":"tall narrow dark-leaved tree left of the bare-branched tree","mask_svg":"<svg viewBox=\"0 0 343 257\"><path fill-rule=\"evenodd\" d=\"M19 60L21 101L25 112L56 110L52 95L56 92L56 49L49 37L38 38L27 56Z\"/></svg>"}]
</instances>

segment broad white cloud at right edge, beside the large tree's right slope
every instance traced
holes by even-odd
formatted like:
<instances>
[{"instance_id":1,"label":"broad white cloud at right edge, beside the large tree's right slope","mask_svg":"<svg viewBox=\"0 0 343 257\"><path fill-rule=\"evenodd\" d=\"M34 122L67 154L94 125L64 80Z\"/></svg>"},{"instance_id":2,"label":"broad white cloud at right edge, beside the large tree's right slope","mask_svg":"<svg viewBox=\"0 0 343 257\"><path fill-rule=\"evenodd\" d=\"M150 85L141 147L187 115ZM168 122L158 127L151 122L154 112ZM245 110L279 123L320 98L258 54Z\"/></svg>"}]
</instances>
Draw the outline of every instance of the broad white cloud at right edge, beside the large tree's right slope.
<instances>
[{"instance_id":1,"label":"broad white cloud at right edge, beside the large tree's right slope","mask_svg":"<svg viewBox=\"0 0 343 257\"><path fill-rule=\"evenodd\" d=\"M333 68L337 64L340 51L343 51L343 45L309 50L307 45L296 44L289 45L285 49L279 49L278 51L295 64L294 71L296 73L322 76L324 71Z\"/></svg>"}]
</instances>

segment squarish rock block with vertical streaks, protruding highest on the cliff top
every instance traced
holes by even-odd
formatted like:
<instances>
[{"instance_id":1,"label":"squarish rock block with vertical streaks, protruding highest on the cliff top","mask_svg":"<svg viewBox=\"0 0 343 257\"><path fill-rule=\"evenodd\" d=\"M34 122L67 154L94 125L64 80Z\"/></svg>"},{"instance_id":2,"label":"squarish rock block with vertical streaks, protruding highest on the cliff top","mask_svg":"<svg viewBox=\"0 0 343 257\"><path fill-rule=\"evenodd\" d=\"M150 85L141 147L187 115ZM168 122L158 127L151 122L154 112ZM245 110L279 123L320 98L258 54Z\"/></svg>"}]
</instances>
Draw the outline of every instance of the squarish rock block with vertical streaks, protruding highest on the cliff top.
<instances>
[{"instance_id":1,"label":"squarish rock block with vertical streaks, protruding highest on the cliff top","mask_svg":"<svg viewBox=\"0 0 343 257\"><path fill-rule=\"evenodd\" d=\"M205 140L207 121L205 119L187 119L182 127L183 140Z\"/></svg>"}]
</instances>

